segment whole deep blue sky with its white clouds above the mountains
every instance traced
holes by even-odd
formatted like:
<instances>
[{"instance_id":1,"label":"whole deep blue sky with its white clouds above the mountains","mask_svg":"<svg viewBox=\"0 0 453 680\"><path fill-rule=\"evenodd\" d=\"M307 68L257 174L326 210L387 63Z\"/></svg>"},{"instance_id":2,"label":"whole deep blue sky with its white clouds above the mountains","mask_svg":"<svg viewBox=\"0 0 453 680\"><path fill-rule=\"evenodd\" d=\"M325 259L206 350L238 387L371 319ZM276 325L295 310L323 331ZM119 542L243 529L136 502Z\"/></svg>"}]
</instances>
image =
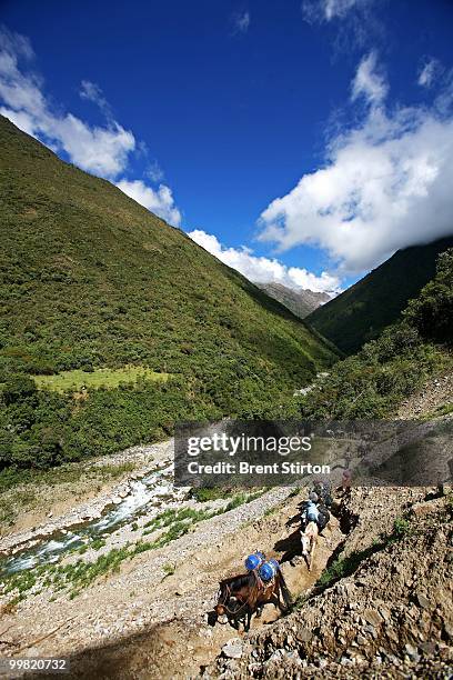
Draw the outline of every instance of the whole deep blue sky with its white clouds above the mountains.
<instances>
[{"instance_id":1,"label":"whole deep blue sky with its white clouds above the mountains","mask_svg":"<svg viewBox=\"0 0 453 680\"><path fill-rule=\"evenodd\" d=\"M254 280L344 288L453 230L446 0L3 0L0 21L3 114Z\"/></svg>"}]
</instances>

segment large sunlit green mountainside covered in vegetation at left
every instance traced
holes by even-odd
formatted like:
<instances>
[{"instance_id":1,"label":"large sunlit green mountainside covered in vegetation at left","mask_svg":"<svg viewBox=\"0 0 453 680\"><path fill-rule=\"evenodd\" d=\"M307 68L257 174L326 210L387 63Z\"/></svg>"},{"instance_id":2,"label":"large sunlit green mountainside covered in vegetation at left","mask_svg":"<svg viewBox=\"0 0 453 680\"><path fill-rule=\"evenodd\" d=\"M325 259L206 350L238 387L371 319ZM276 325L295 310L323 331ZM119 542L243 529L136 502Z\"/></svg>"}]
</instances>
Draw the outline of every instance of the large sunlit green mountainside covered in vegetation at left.
<instances>
[{"instance_id":1,"label":"large sunlit green mountainside covered in vegetation at left","mask_svg":"<svg viewBox=\"0 0 453 680\"><path fill-rule=\"evenodd\" d=\"M112 452L177 420L272 414L335 359L182 231L1 117L0 180L0 468ZM148 374L38 389L123 367Z\"/></svg>"}]
</instances>

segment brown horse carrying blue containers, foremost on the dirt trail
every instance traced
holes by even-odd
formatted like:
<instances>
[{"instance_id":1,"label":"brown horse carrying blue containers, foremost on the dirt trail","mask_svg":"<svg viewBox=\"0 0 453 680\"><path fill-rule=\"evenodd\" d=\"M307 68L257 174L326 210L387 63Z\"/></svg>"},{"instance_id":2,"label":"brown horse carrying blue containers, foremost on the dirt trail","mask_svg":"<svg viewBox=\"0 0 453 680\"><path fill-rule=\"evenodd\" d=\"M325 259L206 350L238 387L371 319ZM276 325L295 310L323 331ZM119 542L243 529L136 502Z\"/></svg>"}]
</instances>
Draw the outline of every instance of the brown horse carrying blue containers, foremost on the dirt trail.
<instances>
[{"instance_id":1,"label":"brown horse carrying blue containers, foremost on the dirt trail","mask_svg":"<svg viewBox=\"0 0 453 680\"><path fill-rule=\"evenodd\" d=\"M251 571L249 573L224 579L219 584L218 603L214 607L217 618L226 616L230 622L239 627L244 619L244 630L250 630L252 616L261 616L264 604L272 602L280 611L291 606L291 593L282 572L276 572L269 583Z\"/></svg>"}]
</instances>

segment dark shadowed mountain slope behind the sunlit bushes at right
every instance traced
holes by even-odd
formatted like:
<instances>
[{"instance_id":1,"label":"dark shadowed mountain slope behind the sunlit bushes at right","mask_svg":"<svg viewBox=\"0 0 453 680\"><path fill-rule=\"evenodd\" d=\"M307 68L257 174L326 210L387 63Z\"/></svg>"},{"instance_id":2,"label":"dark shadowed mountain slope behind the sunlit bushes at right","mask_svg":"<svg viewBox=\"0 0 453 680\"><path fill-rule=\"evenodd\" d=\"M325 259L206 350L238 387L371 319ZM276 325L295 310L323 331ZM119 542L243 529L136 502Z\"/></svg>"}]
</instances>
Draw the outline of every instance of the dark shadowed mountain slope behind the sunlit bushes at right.
<instances>
[{"instance_id":1,"label":"dark shadowed mountain slope behind the sunlit bushes at right","mask_svg":"<svg viewBox=\"0 0 453 680\"><path fill-rule=\"evenodd\" d=\"M451 246L453 237L399 250L306 320L343 352L356 351L397 319L407 301L433 278L439 253Z\"/></svg>"}]
</instances>

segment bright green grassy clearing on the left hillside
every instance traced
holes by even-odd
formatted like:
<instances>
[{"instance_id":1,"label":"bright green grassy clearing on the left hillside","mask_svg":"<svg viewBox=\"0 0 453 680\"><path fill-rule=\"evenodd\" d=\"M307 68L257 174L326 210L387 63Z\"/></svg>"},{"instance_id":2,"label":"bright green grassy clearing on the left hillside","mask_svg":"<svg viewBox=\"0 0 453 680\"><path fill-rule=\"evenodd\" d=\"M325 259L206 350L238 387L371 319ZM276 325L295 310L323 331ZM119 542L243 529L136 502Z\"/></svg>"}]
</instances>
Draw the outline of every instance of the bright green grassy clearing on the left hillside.
<instances>
[{"instance_id":1,"label":"bright green grassy clearing on the left hillside","mask_svg":"<svg viewBox=\"0 0 453 680\"><path fill-rule=\"evenodd\" d=\"M119 369L101 368L91 372L74 369L72 371L62 371L56 376L33 376L32 378L39 389L64 393L80 391L82 388L87 390L100 387L113 389L123 382L135 383L139 378L164 382L169 376L167 373L157 373L143 366L124 366Z\"/></svg>"}]
</instances>

